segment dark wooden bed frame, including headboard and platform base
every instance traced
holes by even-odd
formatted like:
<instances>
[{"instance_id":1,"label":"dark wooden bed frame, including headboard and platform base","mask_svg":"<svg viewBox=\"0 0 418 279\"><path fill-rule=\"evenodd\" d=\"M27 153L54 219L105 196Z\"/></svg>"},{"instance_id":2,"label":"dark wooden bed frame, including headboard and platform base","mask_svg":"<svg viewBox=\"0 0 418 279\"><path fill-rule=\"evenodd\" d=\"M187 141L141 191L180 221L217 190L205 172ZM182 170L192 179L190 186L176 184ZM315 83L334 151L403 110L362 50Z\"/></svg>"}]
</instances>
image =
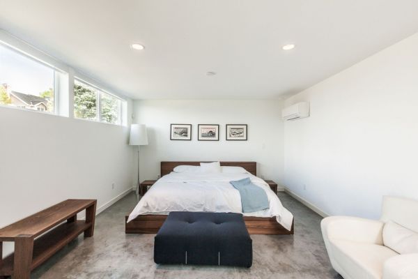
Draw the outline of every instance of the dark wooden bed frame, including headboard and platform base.
<instances>
[{"instance_id":1,"label":"dark wooden bed frame, including headboard and platform base","mask_svg":"<svg viewBox=\"0 0 418 279\"><path fill-rule=\"evenodd\" d=\"M161 176L169 174L174 167L178 165L200 165L199 162L161 162ZM243 167L247 172L257 175L256 162L221 162L222 166ZM126 223L129 215L125 216L126 234L156 234L167 215L141 215ZM276 218L247 217L244 216L245 226L249 234L293 234L295 220L293 220L292 229L288 231L282 225L277 223Z\"/></svg>"}]
</instances>

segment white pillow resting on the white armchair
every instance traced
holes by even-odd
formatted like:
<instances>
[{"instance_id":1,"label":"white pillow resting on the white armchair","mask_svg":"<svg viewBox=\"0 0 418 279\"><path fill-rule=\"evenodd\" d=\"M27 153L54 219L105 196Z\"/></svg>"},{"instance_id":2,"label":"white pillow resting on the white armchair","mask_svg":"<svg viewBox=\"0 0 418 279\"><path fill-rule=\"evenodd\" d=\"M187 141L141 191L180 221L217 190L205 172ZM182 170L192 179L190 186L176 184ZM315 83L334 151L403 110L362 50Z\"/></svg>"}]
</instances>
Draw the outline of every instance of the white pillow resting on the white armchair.
<instances>
[{"instance_id":1,"label":"white pillow resting on the white armchair","mask_svg":"<svg viewBox=\"0 0 418 279\"><path fill-rule=\"evenodd\" d=\"M399 254L418 253L418 233L392 221L383 227L383 243Z\"/></svg>"}]
</instances>

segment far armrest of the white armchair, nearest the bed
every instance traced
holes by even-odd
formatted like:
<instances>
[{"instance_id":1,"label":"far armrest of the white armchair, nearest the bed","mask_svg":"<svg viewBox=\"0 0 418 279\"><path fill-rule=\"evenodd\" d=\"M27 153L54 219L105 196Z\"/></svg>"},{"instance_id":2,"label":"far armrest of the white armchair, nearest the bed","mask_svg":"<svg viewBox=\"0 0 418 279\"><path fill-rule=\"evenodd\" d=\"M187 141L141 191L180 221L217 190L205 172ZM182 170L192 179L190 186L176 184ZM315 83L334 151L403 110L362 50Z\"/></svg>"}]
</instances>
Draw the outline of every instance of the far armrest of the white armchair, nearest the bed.
<instances>
[{"instance_id":1,"label":"far armrest of the white armchair, nearest the bed","mask_svg":"<svg viewBox=\"0 0 418 279\"><path fill-rule=\"evenodd\" d=\"M320 223L325 241L341 239L378 245L383 245L384 225L382 221L348 216L327 217Z\"/></svg>"}]
</instances>

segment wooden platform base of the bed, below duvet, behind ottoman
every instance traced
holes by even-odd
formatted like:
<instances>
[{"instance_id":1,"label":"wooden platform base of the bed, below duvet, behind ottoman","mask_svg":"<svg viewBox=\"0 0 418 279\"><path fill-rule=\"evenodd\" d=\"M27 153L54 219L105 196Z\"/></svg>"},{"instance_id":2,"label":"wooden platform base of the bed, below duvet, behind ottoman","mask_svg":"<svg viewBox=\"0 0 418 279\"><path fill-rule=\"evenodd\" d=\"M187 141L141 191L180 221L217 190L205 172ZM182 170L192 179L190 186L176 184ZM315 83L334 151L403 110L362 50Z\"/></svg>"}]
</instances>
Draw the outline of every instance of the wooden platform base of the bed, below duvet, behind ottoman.
<instances>
[{"instance_id":1,"label":"wooden platform base of the bed, below duvet, behind ottoman","mask_svg":"<svg viewBox=\"0 0 418 279\"><path fill-rule=\"evenodd\" d=\"M126 223L127 217L125 217L126 234L156 234L167 215L141 215L130 223ZM249 234L293 234L294 221L290 232L277 223L276 218L244 216L244 221Z\"/></svg>"}]
</instances>

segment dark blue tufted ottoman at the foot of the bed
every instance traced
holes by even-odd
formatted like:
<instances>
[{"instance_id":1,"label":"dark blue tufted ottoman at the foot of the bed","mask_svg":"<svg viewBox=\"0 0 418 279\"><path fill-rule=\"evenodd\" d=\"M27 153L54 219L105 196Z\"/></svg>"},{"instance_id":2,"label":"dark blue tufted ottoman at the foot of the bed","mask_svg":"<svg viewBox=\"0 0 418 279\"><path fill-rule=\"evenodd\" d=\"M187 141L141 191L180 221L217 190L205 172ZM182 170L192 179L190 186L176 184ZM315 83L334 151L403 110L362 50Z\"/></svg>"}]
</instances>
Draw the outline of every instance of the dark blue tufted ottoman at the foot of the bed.
<instances>
[{"instance_id":1,"label":"dark blue tufted ottoman at the foot of the bed","mask_svg":"<svg viewBox=\"0 0 418 279\"><path fill-rule=\"evenodd\" d=\"M238 213L171 212L155 236L156 264L252 264L252 240Z\"/></svg>"}]
</instances>

